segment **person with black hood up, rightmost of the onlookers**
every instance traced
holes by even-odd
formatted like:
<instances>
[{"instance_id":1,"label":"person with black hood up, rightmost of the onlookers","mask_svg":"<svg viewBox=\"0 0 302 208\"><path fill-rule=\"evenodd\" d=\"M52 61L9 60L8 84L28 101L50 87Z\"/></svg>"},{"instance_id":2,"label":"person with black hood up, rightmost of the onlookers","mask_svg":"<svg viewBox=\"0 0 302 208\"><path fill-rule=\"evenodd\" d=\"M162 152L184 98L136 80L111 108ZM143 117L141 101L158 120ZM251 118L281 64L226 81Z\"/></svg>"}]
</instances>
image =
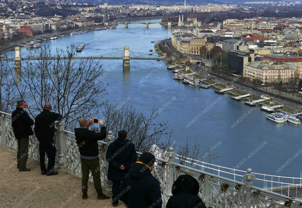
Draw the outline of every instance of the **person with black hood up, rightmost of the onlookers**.
<instances>
[{"instance_id":1,"label":"person with black hood up, rightmost of the onlookers","mask_svg":"<svg viewBox=\"0 0 302 208\"><path fill-rule=\"evenodd\" d=\"M172 186L173 196L169 198L166 208L207 208L198 197L199 184L190 175L181 175Z\"/></svg>"}]
</instances>

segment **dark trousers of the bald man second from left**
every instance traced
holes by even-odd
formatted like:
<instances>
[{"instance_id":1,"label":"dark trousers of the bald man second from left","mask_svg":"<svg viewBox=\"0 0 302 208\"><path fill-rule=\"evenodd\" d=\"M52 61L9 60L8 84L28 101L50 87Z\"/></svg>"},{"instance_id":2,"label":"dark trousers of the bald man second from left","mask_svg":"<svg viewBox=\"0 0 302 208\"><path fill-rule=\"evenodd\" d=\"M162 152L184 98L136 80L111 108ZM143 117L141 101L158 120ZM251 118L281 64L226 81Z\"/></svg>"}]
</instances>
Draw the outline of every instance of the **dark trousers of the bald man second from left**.
<instances>
[{"instance_id":1,"label":"dark trousers of the bald man second from left","mask_svg":"<svg viewBox=\"0 0 302 208\"><path fill-rule=\"evenodd\" d=\"M53 147L52 138L39 138L39 155L40 155L40 168L41 171L53 172L56 161L56 147ZM45 167L45 152L48 158L47 169Z\"/></svg>"}]
</instances>

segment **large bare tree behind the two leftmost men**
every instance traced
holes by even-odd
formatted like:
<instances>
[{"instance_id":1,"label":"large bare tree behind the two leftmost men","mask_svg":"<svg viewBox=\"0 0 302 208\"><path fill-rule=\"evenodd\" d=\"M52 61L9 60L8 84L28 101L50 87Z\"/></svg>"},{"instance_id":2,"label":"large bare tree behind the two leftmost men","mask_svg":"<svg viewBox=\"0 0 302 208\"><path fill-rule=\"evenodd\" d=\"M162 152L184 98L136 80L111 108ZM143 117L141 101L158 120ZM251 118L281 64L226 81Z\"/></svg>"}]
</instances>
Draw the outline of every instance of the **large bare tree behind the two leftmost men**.
<instances>
[{"instance_id":1,"label":"large bare tree behind the two leftmost men","mask_svg":"<svg viewBox=\"0 0 302 208\"><path fill-rule=\"evenodd\" d=\"M32 116L50 102L53 110L63 115L68 130L80 117L97 115L106 94L102 65L93 59L74 60L75 55L74 45L56 49L54 56L49 47L41 47L23 61L21 82L15 84L21 98L29 101Z\"/></svg>"}]
</instances>

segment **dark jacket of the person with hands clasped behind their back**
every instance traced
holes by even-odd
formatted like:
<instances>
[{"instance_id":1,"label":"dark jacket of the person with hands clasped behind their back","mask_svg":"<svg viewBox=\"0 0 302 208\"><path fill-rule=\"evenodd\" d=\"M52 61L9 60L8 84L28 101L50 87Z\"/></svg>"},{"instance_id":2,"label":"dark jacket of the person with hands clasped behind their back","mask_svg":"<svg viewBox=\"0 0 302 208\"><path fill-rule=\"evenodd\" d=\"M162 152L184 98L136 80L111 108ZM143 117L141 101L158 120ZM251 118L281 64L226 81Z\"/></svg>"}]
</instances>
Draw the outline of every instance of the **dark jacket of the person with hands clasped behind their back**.
<instances>
[{"instance_id":1,"label":"dark jacket of the person with hands clasped behind their back","mask_svg":"<svg viewBox=\"0 0 302 208\"><path fill-rule=\"evenodd\" d=\"M128 139L117 138L109 146L106 152L108 166L108 180L123 180L129 172L130 165L137 161L137 154L134 144ZM119 167L124 165L125 170Z\"/></svg>"}]
</instances>

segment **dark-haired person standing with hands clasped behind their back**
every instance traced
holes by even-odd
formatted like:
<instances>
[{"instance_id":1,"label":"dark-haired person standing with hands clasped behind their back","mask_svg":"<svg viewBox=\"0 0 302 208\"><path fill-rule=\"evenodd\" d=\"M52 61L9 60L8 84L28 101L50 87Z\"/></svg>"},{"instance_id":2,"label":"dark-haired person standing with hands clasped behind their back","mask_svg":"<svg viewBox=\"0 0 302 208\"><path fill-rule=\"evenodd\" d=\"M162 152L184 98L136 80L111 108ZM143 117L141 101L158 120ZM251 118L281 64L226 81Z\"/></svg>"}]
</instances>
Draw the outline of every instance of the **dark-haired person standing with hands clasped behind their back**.
<instances>
[{"instance_id":1,"label":"dark-haired person standing with hands clasped behind their back","mask_svg":"<svg viewBox=\"0 0 302 208\"><path fill-rule=\"evenodd\" d=\"M117 191L120 182L129 172L130 165L137 161L137 154L134 144L127 138L127 132L121 130L118 132L118 138L113 141L107 149L106 160L108 166L108 180L112 180L112 206L118 204Z\"/></svg>"}]
</instances>

